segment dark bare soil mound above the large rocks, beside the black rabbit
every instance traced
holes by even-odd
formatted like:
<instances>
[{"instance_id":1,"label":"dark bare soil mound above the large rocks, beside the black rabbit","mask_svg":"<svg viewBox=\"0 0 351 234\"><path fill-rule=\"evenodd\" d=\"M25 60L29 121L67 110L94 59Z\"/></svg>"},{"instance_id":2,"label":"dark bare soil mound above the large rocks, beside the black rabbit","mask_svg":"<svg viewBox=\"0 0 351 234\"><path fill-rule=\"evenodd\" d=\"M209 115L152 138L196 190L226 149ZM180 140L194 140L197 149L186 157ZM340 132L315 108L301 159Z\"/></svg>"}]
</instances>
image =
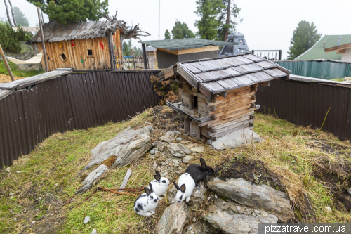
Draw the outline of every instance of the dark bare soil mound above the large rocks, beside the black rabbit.
<instances>
[{"instance_id":1,"label":"dark bare soil mound above the large rocks, beside the black rabbit","mask_svg":"<svg viewBox=\"0 0 351 234\"><path fill-rule=\"evenodd\" d=\"M233 157L230 162L217 164L216 176L225 180L227 178L244 178L256 184L272 186L276 190L285 192L279 177L265 167L264 162L250 158Z\"/></svg>"}]
</instances>

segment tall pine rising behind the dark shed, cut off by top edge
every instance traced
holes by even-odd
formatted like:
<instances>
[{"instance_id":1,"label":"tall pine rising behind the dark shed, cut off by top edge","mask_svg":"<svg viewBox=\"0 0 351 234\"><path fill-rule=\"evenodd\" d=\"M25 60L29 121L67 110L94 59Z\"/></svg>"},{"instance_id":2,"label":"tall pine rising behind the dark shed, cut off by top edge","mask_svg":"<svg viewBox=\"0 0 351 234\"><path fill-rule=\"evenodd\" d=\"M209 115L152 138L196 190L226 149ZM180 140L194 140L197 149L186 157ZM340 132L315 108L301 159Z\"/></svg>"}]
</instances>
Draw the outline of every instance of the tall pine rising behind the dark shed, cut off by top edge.
<instances>
[{"instance_id":1,"label":"tall pine rising behind the dark shed, cut off by top edge","mask_svg":"<svg viewBox=\"0 0 351 234\"><path fill-rule=\"evenodd\" d=\"M218 33L218 15L225 9L222 0L198 0L197 1L197 15L201 20L195 22L195 26L199 30L197 34L202 39L213 40L216 39Z\"/></svg>"}]
</instances>

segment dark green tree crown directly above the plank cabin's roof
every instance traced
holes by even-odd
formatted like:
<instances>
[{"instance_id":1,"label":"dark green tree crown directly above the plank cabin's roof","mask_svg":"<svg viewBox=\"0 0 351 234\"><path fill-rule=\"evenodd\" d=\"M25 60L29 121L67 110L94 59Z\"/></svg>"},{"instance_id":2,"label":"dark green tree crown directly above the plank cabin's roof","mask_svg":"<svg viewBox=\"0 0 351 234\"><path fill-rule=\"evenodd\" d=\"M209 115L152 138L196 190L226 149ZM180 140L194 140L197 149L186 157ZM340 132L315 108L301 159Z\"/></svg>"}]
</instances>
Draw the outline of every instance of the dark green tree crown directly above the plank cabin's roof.
<instances>
[{"instance_id":1,"label":"dark green tree crown directly above the plank cabin's roof","mask_svg":"<svg viewBox=\"0 0 351 234\"><path fill-rule=\"evenodd\" d=\"M108 14L108 0L27 0L48 15L49 20L67 22L98 21Z\"/></svg>"}]
</instances>

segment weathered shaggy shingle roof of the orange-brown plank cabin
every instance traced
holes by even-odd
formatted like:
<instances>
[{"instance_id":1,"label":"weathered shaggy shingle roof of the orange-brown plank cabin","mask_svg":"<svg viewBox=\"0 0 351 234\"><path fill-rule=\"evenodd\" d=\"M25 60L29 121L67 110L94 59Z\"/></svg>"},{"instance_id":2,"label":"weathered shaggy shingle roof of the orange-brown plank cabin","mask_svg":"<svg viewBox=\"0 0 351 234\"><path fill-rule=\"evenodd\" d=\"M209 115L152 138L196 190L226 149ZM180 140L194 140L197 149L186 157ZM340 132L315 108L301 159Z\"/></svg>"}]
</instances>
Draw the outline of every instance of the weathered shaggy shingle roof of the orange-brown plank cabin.
<instances>
[{"instance_id":1,"label":"weathered shaggy shingle roof of the orange-brown plank cabin","mask_svg":"<svg viewBox=\"0 0 351 234\"><path fill-rule=\"evenodd\" d=\"M105 22L69 22L67 25L62 25L51 21L44 24L44 39L48 42L54 42L106 37ZM34 35L32 42L41 42L40 31Z\"/></svg>"}]
</instances>

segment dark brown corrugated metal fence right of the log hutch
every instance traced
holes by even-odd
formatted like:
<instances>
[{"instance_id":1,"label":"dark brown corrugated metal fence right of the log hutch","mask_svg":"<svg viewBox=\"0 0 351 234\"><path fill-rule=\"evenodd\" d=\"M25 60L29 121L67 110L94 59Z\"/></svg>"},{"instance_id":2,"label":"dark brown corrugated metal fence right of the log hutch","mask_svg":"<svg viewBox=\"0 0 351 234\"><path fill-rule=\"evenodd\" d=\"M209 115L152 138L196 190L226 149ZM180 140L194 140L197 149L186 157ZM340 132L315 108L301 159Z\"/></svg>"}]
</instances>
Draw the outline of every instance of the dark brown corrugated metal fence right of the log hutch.
<instances>
[{"instance_id":1,"label":"dark brown corrugated metal fence right of the log hutch","mask_svg":"<svg viewBox=\"0 0 351 234\"><path fill-rule=\"evenodd\" d=\"M323 84L274 80L271 86L258 86L260 112L286 119L296 125L322 126L342 140L351 139L351 89Z\"/></svg>"}]
</instances>

